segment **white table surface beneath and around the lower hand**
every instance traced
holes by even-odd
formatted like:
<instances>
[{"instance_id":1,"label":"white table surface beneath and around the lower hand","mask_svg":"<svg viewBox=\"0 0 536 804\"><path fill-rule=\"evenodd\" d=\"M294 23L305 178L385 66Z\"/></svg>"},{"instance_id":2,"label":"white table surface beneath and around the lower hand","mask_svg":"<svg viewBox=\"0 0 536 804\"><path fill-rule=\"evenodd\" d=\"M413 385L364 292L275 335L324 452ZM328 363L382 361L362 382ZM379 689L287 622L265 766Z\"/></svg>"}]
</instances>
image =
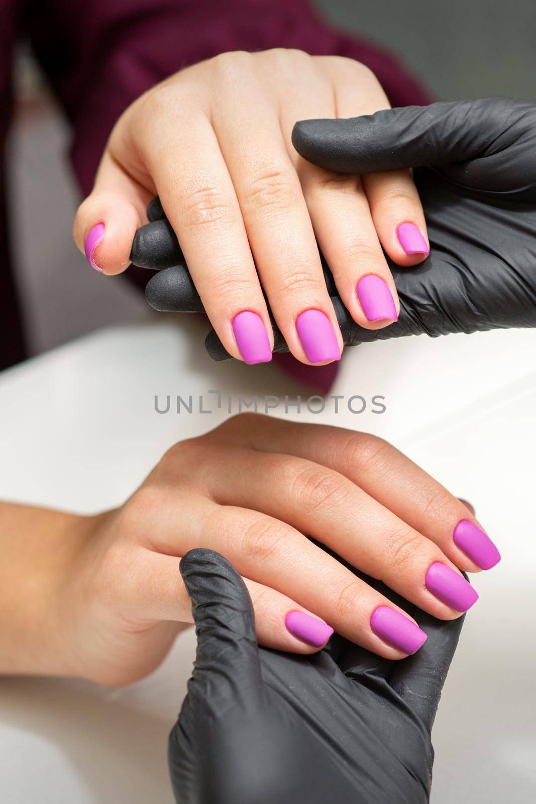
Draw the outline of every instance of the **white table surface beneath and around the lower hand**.
<instances>
[{"instance_id":1,"label":"white table surface beneath and around the lower hand","mask_svg":"<svg viewBox=\"0 0 536 804\"><path fill-rule=\"evenodd\" d=\"M273 367L211 363L203 322L104 330L0 375L0 498L80 513L122 501L174 442L227 416L227 395L300 392ZM536 794L536 332L403 338L346 353L333 394L385 396L374 415L295 408L293 419L394 441L477 507L503 560L474 584L434 731L434 804L526 804ZM154 396L223 394L207 415L158 414ZM302 398L308 392L301 390ZM207 403L208 404L208 403ZM207 405L206 405L207 406ZM273 411L286 416L284 408ZM166 737L194 651L114 690L0 679L0 800L171 804Z\"/></svg>"}]
</instances>

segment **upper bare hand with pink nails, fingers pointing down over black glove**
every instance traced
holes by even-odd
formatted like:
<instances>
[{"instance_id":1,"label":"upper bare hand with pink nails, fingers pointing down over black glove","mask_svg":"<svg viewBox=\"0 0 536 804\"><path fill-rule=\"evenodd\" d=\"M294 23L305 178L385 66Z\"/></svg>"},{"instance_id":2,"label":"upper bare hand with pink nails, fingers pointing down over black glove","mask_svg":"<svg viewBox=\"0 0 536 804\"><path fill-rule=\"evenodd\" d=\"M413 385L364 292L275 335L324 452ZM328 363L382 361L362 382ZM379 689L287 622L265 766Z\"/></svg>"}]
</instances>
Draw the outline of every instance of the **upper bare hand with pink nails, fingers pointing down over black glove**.
<instances>
[{"instance_id":1,"label":"upper bare hand with pink nails, fingers pointing down over black glove","mask_svg":"<svg viewBox=\"0 0 536 804\"><path fill-rule=\"evenodd\" d=\"M395 321L397 265L428 254L407 170L341 177L293 149L297 120L388 108L362 64L281 49L226 53L171 76L121 116L75 221L91 265L115 274L158 192L230 355L272 357L272 325L304 363L338 360L342 337L318 246L355 322ZM316 240L315 240L316 236Z\"/></svg>"}]
</instances>

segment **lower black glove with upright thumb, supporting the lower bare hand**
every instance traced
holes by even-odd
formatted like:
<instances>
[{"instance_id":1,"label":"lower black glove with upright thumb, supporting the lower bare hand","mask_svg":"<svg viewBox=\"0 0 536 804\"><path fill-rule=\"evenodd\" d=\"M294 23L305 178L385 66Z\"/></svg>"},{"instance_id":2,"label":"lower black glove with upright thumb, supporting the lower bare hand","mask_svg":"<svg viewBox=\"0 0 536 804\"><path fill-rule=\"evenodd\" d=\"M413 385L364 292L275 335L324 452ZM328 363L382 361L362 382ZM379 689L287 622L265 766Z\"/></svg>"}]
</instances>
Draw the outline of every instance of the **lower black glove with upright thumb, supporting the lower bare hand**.
<instances>
[{"instance_id":1,"label":"lower black glove with upright thumb, supporting the lower bare hand","mask_svg":"<svg viewBox=\"0 0 536 804\"><path fill-rule=\"evenodd\" d=\"M430 732L463 617L405 604L428 640L401 662L338 636L320 653L284 654L257 647L248 591L226 559L195 549L180 568L198 650L170 734L177 802L428 802Z\"/></svg>"}]
</instances>

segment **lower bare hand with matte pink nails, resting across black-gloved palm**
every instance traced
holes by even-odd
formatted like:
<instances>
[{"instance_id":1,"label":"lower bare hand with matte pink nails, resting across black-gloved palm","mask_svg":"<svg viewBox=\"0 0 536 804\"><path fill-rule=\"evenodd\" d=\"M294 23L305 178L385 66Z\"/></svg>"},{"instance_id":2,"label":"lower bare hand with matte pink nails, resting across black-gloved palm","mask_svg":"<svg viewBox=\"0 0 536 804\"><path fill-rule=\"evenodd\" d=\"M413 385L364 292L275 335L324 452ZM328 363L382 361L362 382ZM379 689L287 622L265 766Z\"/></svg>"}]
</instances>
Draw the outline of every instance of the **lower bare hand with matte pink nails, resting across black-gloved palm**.
<instances>
[{"instance_id":1,"label":"lower bare hand with matte pink nails, resting across black-gloved palm","mask_svg":"<svg viewBox=\"0 0 536 804\"><path fill-rule=\"evenodd\" d=\"M308 536L443 620L477 600L460 569L500 557L468 508L385 441L254 414L178 443L123 507L84 527L55 642L68 675L113 684L157 667L191 622L178 557L193 548L243 576L262 645L313 653L335 629L389 659L425 634Z\"/></svg>"}]
</instances>

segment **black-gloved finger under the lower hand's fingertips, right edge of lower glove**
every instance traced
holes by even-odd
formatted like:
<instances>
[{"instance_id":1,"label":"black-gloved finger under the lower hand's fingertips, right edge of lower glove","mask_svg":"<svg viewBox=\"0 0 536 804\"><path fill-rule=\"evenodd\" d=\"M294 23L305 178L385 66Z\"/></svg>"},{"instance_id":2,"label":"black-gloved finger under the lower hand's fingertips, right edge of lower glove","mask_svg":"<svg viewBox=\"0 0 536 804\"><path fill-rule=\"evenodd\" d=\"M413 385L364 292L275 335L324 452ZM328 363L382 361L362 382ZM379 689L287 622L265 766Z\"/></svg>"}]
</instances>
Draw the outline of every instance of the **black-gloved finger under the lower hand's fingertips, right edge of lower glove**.
<instances>
[{"instance_id":1,"label":"black-gloved finger under the lower hand's fingertips, right edge of lower glove","mask_svg":"<svg viewBox=\"0 0 536 804\"><path fill-rule=\"evenodd\" d=\"M427 613L412 613L428 639L414 656L393 667L390 684L431 732L464 616L440 622Z\"/></svg>"}]
</instances>

